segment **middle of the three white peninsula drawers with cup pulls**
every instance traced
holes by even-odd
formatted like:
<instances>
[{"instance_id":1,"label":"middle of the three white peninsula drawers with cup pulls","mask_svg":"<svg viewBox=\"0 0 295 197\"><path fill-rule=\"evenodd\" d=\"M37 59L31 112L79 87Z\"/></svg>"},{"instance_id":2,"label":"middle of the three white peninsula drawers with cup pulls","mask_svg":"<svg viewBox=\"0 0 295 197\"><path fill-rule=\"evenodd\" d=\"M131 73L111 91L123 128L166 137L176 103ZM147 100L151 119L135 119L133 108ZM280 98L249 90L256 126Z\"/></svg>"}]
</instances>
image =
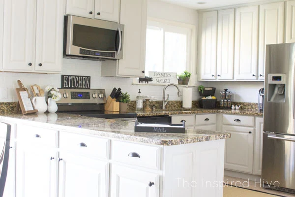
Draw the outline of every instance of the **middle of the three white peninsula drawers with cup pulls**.
<instances>
[{"instance_id":1,"label":"middle of the three white peninsula drawers with cup pulls","mask_svg":"<svg viewBox=\"0 0 295 197\"><path fill-rule=\"evenodd\" d=\"M109 158L109 140L95 136L60 132L59 147L60 149L88 155L92 158Z\"/></svg>"}]
</instances>

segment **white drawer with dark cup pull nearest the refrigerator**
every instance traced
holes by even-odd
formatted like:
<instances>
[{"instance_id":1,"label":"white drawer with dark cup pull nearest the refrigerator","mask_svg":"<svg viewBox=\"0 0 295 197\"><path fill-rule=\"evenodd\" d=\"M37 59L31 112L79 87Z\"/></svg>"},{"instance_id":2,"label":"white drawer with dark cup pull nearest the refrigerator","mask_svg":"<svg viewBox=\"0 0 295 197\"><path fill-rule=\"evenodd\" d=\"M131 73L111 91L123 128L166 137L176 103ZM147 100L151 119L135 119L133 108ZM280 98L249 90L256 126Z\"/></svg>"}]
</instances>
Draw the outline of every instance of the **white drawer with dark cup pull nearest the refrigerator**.
<instances>
[{"instance_id":1,"label":"white drawer with dark cup pull nearest the refrigerator","mask_svg":"<svg viewBox=\"0 0 295 197\"><path fill-rule=\"evenodd\" d=\"M222 124L254 127L254 117L223 114Z\"/></svg>"}]
</instances>

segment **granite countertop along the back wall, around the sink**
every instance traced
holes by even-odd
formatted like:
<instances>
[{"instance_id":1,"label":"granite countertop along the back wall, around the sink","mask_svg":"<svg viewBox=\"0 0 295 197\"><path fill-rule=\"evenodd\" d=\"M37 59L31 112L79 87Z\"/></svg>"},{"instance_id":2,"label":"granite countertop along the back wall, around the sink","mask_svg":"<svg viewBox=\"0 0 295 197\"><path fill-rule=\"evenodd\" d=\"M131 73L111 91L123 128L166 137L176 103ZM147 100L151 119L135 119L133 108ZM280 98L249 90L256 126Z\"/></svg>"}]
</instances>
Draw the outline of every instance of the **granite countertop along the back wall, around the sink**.
<instances>
[{"instance_id":1,"label":"granite countertop along the back wall, around the sink","mask_svg":"<svg viewBox=\"0 0 295 197\"><path fill-rule=\"evenodd\" d=\"M207 114L207 113L224 113L224 114L238 114L238 115L251 115L251 116L263 116L262 112L257 110L248 109L176 109L176 110L152 110L152 111L129 111L136 112L137 116L163 116L163 115L181 115L181 114Z\"/></svg>"}]
</instances>

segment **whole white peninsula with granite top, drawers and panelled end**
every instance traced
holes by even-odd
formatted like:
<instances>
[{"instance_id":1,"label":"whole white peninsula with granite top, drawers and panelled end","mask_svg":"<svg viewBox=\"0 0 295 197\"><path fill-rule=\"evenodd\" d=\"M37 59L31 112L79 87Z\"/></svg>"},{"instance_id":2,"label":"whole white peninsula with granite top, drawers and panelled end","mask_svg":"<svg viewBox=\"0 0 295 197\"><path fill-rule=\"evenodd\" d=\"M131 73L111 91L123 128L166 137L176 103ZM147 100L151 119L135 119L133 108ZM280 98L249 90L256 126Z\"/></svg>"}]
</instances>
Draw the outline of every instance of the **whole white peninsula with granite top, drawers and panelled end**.
<instances>
[{"instance_id":1,"label":"whole white peninsula with granite top, drawers and panelled end","mask_svg":"<svg viewBox=\"0 0 295 197\"><path fill-rule=\"evenodd\" d=\"M7 114L0 121L12 125L15 176L10 173L5 190L16 194L222 197L230 133L138 133L132 121L66 113Z\"/></svg>"}]
</instances>

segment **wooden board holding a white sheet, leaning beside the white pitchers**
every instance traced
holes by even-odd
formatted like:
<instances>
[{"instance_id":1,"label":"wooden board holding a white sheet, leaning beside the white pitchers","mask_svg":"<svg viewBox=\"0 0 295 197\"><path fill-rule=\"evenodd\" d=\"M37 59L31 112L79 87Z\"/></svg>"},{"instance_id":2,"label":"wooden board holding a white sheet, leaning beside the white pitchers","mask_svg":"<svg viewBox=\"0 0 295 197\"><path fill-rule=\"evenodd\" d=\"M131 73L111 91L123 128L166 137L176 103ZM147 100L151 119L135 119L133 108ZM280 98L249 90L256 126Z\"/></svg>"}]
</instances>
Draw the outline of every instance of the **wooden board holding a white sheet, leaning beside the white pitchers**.
<instances>
[{"instance_id":1,"label":"wooden board holding a white sheet, leaning beside the white pitchers","mask_svg":"<svg viewBox=\"0 0 295 197\"><path fill-rule=\"evenodd\" d=\"M17 98L19 99L19 102L16 106L16 111L18 112L21 108L23 115L38 112L38 110L34 109L32 106L29 90L25 88L20 80L17 80L17 82L20 88L16 88Z\"/></svg>"}]
</instances>

